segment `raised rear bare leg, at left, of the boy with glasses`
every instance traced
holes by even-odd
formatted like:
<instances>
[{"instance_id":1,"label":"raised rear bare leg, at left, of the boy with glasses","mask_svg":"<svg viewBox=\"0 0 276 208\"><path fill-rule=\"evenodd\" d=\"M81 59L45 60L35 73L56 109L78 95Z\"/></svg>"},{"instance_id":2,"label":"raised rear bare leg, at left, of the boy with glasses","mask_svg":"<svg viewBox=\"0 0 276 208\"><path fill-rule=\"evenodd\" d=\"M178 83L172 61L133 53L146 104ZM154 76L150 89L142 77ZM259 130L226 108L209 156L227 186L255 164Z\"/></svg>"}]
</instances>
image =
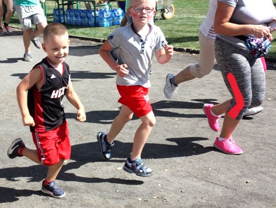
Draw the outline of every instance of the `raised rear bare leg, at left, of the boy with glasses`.
<instances>
[{"instance_id":1,"label":"raised rear bare leg, at left, of the boy with glasses","mask_svg":"<svg viewBox=\"0 0 276 208\"><path fill-rule=\"evenodd\" d=\"M115 137L124 128L125 124L132 119L133 111L126 105L122 105L119 115L113 120L111 128L107 134L107 142L111 144Z\"/></svg>"}]
</instances>

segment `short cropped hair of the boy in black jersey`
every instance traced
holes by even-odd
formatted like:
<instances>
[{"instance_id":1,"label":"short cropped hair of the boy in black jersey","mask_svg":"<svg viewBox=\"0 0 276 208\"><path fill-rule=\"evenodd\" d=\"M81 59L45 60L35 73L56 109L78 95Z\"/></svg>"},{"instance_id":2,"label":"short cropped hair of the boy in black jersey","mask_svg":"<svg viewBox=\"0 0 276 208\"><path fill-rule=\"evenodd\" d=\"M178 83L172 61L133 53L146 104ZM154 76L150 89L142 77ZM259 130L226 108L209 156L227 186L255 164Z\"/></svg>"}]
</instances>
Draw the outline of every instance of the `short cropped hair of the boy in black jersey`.
<instances>
[{"instance_id":1,"label":"short cropped hair of the boy in black jersey","mask_svg":"<svg viewBox=\"0 0 276 208\"><path fill-rule=\"evenodd\" d=\"M43 41L45 42L45 40L47 40L47 38L49 36L62 36L62 35L68 36L68 32L67 32L67 29L65 28L65 26L60 23L53 22L53 23L48 24L44 28Z\"/></svg>"}]
</instances>

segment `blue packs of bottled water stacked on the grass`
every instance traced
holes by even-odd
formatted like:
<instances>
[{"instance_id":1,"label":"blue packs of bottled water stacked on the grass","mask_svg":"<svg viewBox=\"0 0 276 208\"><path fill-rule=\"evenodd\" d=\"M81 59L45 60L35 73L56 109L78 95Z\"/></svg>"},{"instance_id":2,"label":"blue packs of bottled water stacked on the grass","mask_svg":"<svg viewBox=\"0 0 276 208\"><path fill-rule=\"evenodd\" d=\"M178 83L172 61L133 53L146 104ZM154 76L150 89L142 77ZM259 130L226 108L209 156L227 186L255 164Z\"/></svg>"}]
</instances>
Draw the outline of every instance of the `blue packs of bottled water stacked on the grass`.
<instances>
[{"instance_id":1,"label":"blue packs of bottled water stacked on the grass","mask_svg":"<svg viewBox=\"0 0 276 208\"><path fill-rule=\"evenodd\" d=\"M58 22L58 10L53 11L54 21ZM78 25L87 27L108 27L112 25L120 25L120 22L124 16L124 11L120 8L108 10L100 9L96 10L96 22L95 13L93 10L80 10L71 9L65 11L65 23L68 25ZM63 23L63 10L60 10L60 20Z\"/></svg>"}]
</instances>

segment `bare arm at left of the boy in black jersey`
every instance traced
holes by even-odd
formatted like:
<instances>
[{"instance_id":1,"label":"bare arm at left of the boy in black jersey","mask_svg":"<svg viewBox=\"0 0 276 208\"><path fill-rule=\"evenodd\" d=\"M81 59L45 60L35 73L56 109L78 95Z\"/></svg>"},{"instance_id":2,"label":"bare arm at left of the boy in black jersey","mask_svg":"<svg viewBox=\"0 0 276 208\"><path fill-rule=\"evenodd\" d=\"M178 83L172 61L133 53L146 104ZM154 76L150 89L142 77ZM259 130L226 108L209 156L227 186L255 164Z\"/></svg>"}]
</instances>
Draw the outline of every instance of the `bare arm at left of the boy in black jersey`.
<instances>
[{"instance_id":1,"label":"bare arm at left of the boy in black jersey","mask_svg":"<svg viewBox=\"0 0 276 208\"><path fill-rule=\"evenodd\" d=\"M39 68L32 70L18 84L16 88L17 103L21 112L22 122L24 126L34 126L34 119L31 117L27 104L27 91L34 85L40 85L42 81L42 73Z\"/></svg>"}]
</instances>

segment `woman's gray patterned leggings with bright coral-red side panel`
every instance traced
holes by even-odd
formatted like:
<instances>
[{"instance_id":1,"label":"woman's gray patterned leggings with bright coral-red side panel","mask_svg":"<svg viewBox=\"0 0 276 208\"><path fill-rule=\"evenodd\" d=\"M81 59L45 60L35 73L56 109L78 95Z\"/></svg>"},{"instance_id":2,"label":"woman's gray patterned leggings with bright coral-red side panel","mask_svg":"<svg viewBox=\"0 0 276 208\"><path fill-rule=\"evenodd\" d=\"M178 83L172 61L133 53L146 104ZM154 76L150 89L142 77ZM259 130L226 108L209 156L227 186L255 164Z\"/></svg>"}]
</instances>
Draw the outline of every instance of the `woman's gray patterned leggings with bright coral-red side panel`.
<instances>
[{"instance_id":1,"label":"woman's gray patterned leggings with bright coral-red side panel","mask_svg":"<svg viewBox=\"0 0 276 208\"><path fill-rule=\"evenodd\" d=\"M218 37L215 40L215 56L224 83L232 95L227 114L241 120L248 107L262 104L265 96L265 72L260 58L252 57Z\"/></svg>"}]
</instances>

